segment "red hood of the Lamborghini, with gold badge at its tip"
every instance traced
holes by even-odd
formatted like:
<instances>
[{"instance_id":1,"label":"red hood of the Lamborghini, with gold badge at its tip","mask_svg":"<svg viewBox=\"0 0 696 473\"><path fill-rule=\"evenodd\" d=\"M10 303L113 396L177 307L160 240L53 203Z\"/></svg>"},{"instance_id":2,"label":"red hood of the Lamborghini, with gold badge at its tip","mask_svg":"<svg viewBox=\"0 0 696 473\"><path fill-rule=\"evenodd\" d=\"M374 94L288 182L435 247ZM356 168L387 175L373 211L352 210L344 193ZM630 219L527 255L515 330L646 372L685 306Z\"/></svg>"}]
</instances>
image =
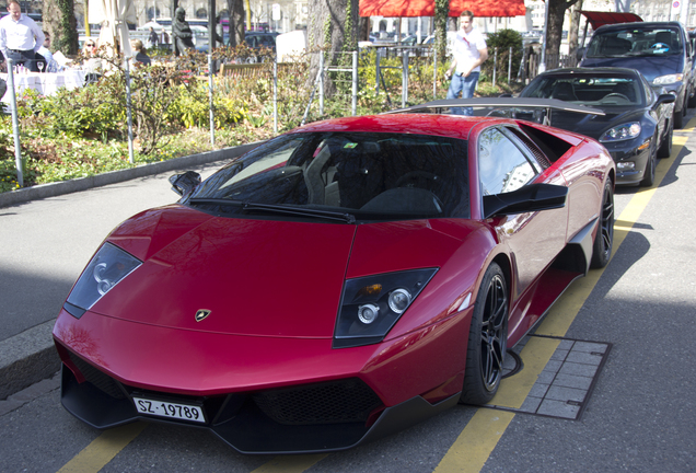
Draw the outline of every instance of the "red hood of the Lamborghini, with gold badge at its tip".
<instances>
[{"instance_id":1,"label":"red hood of the Lamborghini, with gold badge at its tip","mask_svg":"<svg viewBox=\"0 0 696 473\"><path fill-rule=\"evenodd\" d=\"M356 226L164 207L109 235L143 264L91 311L197 332L329 338L346 278L440 266L461 242L451 233L427 220ZM210 314L197 322L199 310Z\"/></svg>"}]
</instances>

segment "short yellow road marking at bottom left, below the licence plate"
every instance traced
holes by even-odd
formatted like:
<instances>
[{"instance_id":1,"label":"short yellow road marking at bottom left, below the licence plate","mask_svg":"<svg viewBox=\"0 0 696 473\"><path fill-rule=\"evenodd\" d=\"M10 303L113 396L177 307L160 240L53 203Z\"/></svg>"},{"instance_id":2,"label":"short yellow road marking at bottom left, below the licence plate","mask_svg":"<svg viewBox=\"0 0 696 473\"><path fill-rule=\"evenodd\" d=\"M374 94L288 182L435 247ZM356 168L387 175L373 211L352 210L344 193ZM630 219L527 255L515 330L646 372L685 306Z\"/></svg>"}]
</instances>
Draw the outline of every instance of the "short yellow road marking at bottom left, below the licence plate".
<instances>
[{"instance_id":1,"label":"short yellow road marking at bottom left, below the licence plate","mask_svg":"<svg viewBox=\"0 0 696 473\"><path fill-rule=\"evenodd\" d=\"M139 422L105 430L70 460L58 473L93 473L102 470L147 427Z\"/></svg>"}]
</instances>

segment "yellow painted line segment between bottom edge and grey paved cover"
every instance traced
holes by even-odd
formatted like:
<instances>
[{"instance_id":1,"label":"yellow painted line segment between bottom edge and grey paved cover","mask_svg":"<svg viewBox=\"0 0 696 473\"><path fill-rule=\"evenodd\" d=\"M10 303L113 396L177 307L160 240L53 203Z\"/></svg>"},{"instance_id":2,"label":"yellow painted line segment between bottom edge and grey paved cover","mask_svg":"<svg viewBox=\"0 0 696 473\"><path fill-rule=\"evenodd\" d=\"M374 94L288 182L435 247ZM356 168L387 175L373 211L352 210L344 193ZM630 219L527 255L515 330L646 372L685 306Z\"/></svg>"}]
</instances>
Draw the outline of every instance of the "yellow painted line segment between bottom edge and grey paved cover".
<instances>
[{"instance_id":1,"label":"yellow painted line segment between bottom edge and grey paved cover","mask_svg":"<svg viewBox=\"0 0 696 473\"><path fill-rule=\"evenodd\" d=\"M434 473L474 473L490 455L514 414L506 411L479 408L468 422L462 435L452 445Z\"/></svg>"}]
</instances>

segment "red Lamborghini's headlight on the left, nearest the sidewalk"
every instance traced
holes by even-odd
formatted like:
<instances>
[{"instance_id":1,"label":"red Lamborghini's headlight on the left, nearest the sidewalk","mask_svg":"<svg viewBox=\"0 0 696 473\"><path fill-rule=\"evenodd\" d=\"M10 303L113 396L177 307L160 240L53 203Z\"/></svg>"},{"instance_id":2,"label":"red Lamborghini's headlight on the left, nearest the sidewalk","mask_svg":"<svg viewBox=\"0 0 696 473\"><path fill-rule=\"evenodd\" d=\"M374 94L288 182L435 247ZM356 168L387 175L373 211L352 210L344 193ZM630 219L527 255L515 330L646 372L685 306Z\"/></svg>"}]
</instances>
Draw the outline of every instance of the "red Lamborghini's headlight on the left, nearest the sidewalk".
<instances>
[{"instance_id":1,"label":"red Lamborghini's headlight on the left, nearest the sidewalk","mask_svg":"<svg viewBox=\"0 0 696 473\"><path fill-rule=\"evenodd\" d=\"M105 243L82 272L68 296L68 304L81 311L70 310L70 307L66 310L79 319L84 311L90 310L96 301L141 264L140 259L118 246Z\"/></svg>"}]
</instances>

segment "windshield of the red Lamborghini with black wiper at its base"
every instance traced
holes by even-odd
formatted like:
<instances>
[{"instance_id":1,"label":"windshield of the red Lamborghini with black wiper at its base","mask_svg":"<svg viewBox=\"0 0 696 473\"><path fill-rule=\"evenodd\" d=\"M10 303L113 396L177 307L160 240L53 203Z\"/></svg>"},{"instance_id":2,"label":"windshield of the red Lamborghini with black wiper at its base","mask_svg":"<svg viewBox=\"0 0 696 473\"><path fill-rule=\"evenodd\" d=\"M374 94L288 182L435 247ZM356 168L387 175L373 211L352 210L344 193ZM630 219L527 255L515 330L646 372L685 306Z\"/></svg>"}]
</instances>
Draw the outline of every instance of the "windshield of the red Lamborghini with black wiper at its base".
<instances>
[{"instance_id":1,"label":"windshield of the red Lamborghini with black wiper at its base","mask_svg":"<svg viewBox=\"0 0 696 473\"><path fill-rule=\"evenodd\" d=\"M467 218L467 175L466 141L461 139L295 132L228 164L184 203L216 214L350 216L344 222Z\"/></svg>"}]
</instances>

